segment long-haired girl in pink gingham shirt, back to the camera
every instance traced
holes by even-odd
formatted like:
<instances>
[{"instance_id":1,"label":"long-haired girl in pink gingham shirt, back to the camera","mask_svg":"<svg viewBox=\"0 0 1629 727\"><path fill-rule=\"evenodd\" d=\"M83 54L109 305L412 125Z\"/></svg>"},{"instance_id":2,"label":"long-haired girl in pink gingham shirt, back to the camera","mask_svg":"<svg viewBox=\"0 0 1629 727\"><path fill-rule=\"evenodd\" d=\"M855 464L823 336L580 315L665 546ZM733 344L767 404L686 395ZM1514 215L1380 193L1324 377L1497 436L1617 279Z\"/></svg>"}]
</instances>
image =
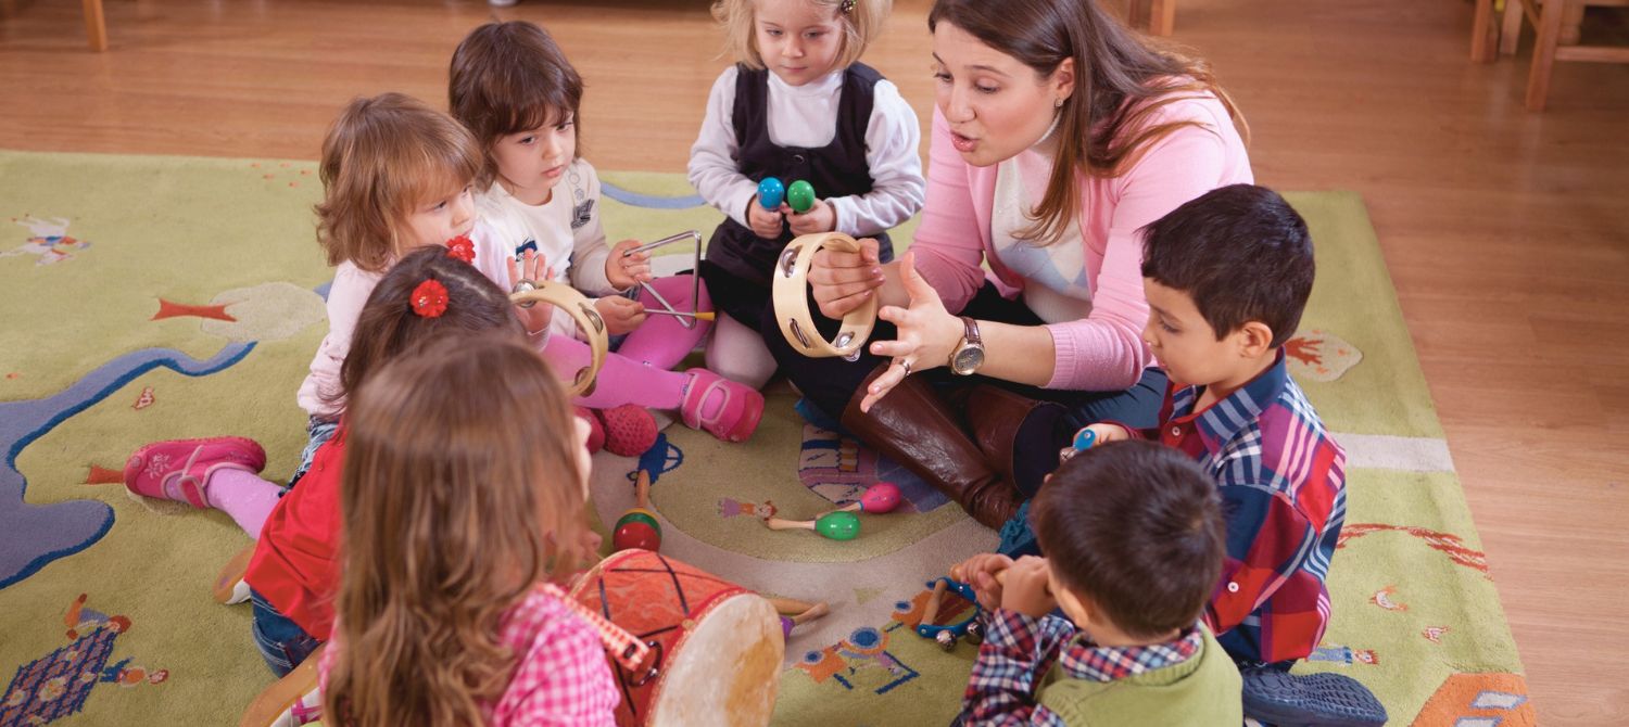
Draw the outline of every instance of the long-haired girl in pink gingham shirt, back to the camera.
<instances>
[{"instance_id":1,"label":"long-haired girl in pink gingham shirt, back to the camera","mask_svg":"<svg viewBox=\"0 0 1629 727\"><path fill-rule=\"evenodd\" d=\"M588 555L588 424L549 368L513 337L440 340L349 424L326 722L613 725L604 647L549 582Z\"/></svg>"}]
</instances>

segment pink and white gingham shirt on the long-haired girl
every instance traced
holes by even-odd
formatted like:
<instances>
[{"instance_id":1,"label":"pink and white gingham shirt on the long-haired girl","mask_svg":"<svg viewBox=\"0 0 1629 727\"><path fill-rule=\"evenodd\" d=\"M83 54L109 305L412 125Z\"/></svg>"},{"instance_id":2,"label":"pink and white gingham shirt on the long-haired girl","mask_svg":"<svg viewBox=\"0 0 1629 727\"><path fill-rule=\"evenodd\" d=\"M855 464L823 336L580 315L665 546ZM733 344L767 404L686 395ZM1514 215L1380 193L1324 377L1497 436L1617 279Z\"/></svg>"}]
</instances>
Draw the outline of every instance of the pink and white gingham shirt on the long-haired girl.
<instances>
[{"instance_id":1,"label":"pink and white gingham shirt on the long-haired girl","mask_svg":"<svg viewBox=\"0 0 1629 727\"><path fill-rule=\"evenodd\" d=\"M531 589L503 615L498 641L516 654L516 662L503 694L482 704L487 725L616 725L621 694L599 633L549 595L546 586ZM323 683L337 652L334 641L323 655Z\"/></svg>"}]
</instances>

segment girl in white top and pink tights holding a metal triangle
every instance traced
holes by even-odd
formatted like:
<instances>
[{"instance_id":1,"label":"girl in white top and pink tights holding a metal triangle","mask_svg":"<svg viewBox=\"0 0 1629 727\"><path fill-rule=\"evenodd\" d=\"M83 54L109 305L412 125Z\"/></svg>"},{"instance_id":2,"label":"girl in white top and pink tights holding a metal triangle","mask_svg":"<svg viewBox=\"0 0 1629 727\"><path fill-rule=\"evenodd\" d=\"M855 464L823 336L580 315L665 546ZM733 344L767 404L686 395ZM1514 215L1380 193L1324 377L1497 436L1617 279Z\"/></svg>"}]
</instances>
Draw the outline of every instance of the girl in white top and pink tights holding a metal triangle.
<instances>
[{"instance_id":1,"label":"girl in white top and pink tights holding a metal triangle","mask_svg":"<svg viewBox=\"0 0 1629 727\"><path fill-rule=\"evenodd\" d=\"M503 246L536 249L560 281L591 296L613 335L627 338L599 371L595 392L578 403L609 408L626 403L678 410L692 429L718 439L746 441L757 428L764 397L707 369L668 371L707 333L707 322L686 329L674 316L650 316L648 289L637 303L622 293L650 283L679 311L692 304L694 278L652 280L650 254L632 252L639 241L606 247L599 224L599 177L578 156L578 109L583 81L542 28L525 21L476 28L453 52L448 102L453 115L481 140L485 153L477 195L482 216ZM564 184L562 184L564 182ZM705 294L697 301L710 309ZM560 332L573 332L559 316ZM557 371L588 363L588 346L570 333L542 351ZM606 418L606 434L621 429ZM652 429L652 438L655 431Z\"/></svg>"}]
</instances>

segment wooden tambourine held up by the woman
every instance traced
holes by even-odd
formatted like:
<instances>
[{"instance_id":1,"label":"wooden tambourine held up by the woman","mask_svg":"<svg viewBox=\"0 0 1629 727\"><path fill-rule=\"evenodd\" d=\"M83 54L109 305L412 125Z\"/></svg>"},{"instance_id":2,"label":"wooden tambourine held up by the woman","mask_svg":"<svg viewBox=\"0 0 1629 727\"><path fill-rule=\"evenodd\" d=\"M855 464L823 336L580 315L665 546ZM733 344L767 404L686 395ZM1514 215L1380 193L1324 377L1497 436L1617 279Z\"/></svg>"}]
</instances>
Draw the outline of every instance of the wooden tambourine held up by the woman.
<instances>
[{"instance_id":1,"label":"wooden tambourine held up by the woman","mask_svg":"<svg viewBox=\"0 0 1629 727\"><path fill-rule=\"evenodd\" d=\"M860 252L860 244L842 233L805 234L787 242L775 262L772 299L780 333L798 353L810 358L857 358L860 346L872 337L876 325L876 296L842 317L842 329L829 342L814 329L810 317L808 276L814 254L831 247L842 252Z\"/></svg>"}]
</instances>

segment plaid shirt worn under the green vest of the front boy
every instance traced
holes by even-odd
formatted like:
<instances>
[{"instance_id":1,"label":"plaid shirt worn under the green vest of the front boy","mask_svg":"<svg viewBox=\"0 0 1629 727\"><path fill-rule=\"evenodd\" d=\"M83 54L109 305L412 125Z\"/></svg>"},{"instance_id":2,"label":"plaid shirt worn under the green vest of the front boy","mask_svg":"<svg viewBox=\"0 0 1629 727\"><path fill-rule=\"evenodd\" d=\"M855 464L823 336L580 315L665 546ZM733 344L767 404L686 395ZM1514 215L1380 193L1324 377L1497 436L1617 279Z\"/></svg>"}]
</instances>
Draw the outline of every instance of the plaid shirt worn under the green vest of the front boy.
<instances>
[{"instance_id":1,"label":"plaid shirt worn under the green vest of the front boy","mask_svg":"<svg viewBox=\"0 0 1629 727\"><path fill-rule=\"evenodd\" d=\"M1189 628L1176 639L1153 646L1096 646L1075 625L1057 616L1030 618L997 608L984 621L984 644L973 664L961 714L969 725L1064 725L1039 704L1038 680L1054 664L1064 675L1088 681L1114 681L1191 659L1204 634Z\"/></svg>"}]
</instances>

